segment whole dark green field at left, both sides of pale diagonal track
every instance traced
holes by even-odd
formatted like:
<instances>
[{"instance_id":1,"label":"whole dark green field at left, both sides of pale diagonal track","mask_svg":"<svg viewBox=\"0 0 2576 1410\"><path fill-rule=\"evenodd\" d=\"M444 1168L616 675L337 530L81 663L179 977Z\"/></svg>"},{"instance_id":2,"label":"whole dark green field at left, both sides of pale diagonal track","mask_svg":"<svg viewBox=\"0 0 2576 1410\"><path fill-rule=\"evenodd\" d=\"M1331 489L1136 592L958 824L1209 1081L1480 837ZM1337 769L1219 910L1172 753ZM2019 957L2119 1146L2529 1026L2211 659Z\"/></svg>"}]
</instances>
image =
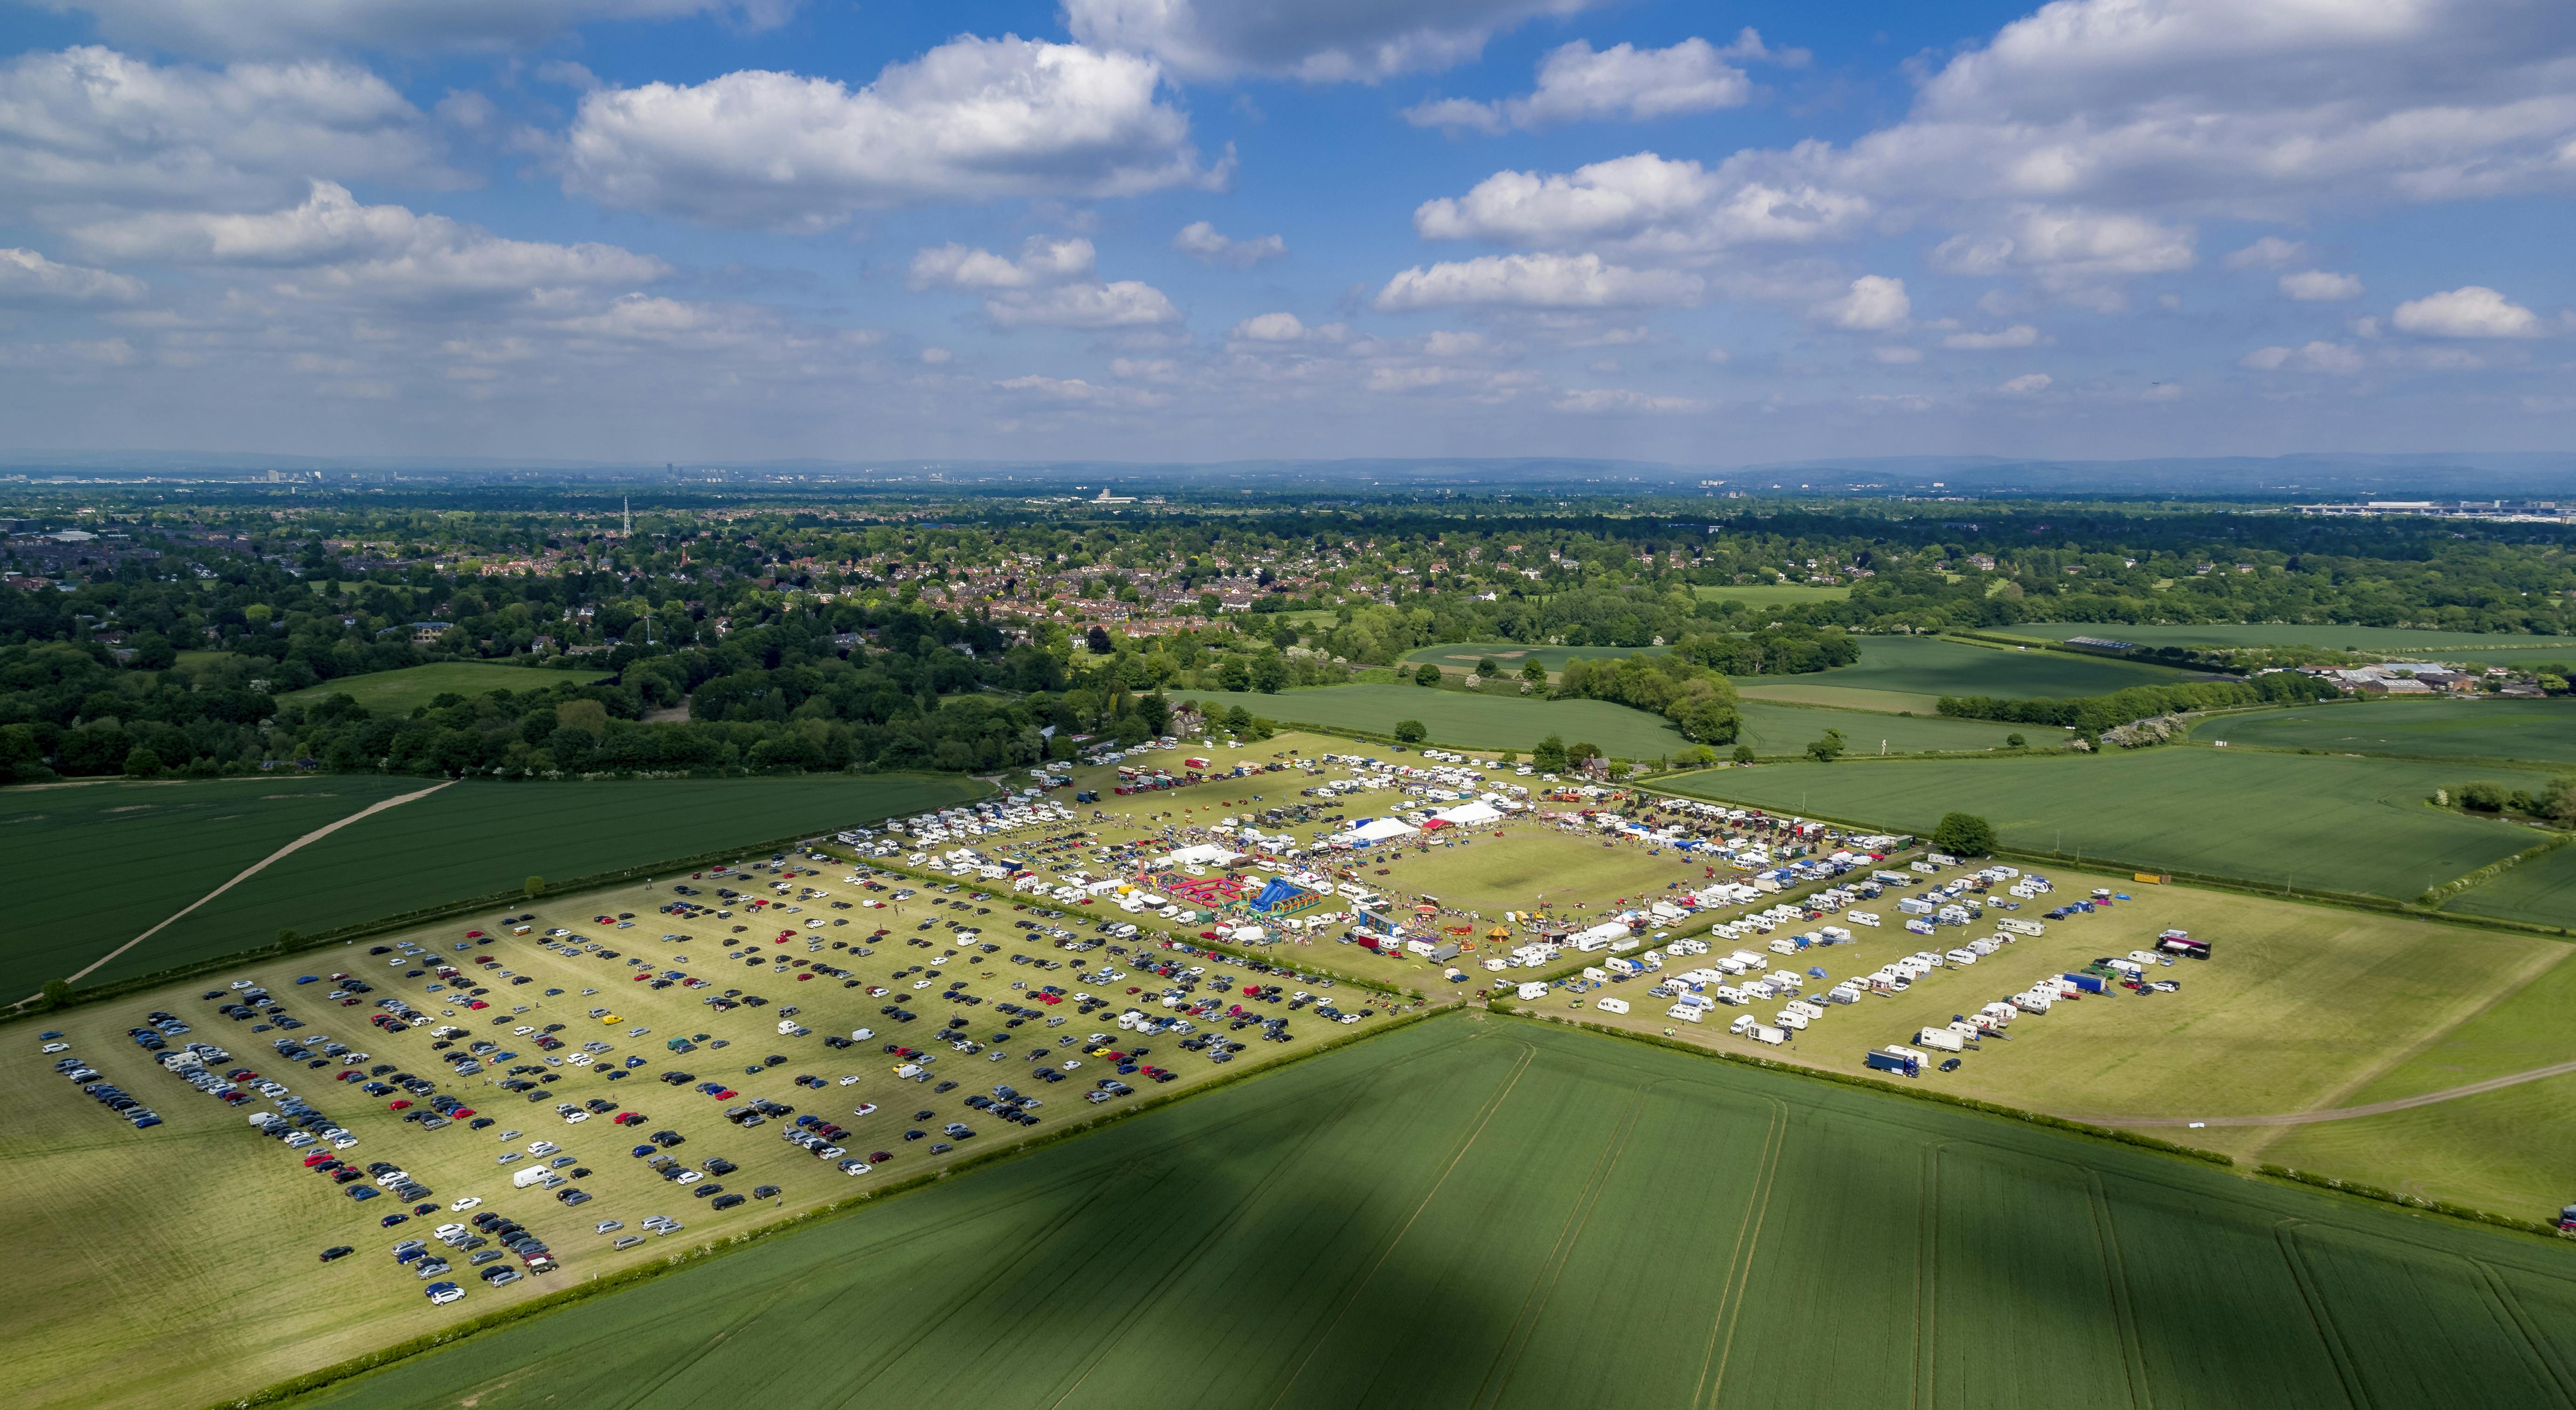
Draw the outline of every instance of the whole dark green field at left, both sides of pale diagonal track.
<instances>
[{"instance_id":1,"label":"whole dark green field at left, both sides of pale diagonal track","mask_svg":"<svg viewBox=\"0 0 2576 1410\"><path fill-rule=\"evenodd\" d=\"M33 992L167 920L245 866L371 802L435 778L330 776L319 781L106 784L8 791L31 815L85 807L72 827L33 822L31 838L75 876L77 897L46 902L54 920L8 946L0 987ZM103 985L265 946L278 931L319 933L430 905L515 892L528 876L569 882L734 843L824 833L896 812L945 807L984 786L951 776L600 778L587 784L451 784L350 822L201 905L103 964ZM116 833L126 797L160 809L149 833ZM263 799L263 794L286 794ZM322 797L330 794L330 797ZM273 809L227 817L227 809ZM160 822L152 822L157 817ZM247 835L247 840L245 840ZM54 840L62 838L62 840ZM142 851L137 851L142 848ZM160 851L178 853L167 869ZM129 871L139 871L131 882Z\"/></svg>"}]
</instances>

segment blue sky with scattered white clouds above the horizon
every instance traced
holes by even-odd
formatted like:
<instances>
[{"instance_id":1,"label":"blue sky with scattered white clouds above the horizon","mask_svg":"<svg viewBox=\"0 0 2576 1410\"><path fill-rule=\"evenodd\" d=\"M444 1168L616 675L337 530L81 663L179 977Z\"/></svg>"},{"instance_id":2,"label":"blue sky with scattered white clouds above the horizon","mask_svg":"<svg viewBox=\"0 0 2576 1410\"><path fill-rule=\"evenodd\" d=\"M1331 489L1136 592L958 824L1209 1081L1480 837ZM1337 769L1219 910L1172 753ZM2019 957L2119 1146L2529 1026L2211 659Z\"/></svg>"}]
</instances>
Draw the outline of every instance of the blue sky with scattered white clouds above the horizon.
<instances>
[{"instance_id":1,"label":"blue sky with scattered white clouds above the horizon","mask_svg":"<svg viewBox=\"0 0 2576 1410\"><path fill-rule=\"evenodd\" d=\"M31 449L2566 449L2576 8L0 0Z\"/></svg>"}]
</instances>

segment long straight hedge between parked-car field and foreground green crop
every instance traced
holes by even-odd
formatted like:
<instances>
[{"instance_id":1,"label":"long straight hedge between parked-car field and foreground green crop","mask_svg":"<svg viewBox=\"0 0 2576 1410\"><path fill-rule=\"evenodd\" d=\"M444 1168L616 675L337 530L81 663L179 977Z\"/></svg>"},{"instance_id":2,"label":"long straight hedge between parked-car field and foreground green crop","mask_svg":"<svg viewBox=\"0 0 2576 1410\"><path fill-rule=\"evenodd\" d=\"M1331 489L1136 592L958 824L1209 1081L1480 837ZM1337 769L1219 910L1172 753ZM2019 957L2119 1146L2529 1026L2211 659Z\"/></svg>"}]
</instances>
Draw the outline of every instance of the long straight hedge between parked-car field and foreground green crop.
<instances>
[{"instance_id":1,"label":"long straight hedge between parked-car field and foreground green crop","mask_svg":"<svg viewBox=\"0 0 2576 1410\"><path fill-rule=\"evenodd\" d=\"M355 1376L363 1376L363 1374L371 1374L371 1371L381 1371L381 1369L397 1366L397 1364L410 1361L415 1356L425 1356L430 1351L438 1351L443 1346L453 1346L453 1343L469 1340L469 1338L482 1335L482 1333L510 1328L510 1325L533 1320L533 1317L546 1317L546 1315L562 1312L562 1309L567 1309L572 1304L590 1302L590 1299L605 1297L611 1291L626 1291L626 1289L649 1284L654 1279L677 1273L680 1268L690 1268L690 1266L698 1266L698 1263L708 1263L714 1258L724 1258L729 1253L739 1253L742 1248L750 1248L755 1242L762 1242L762 1240L770 1240L770 1237L778 1237L778 1235L796 1232L796 1230L801 1230L806 1224L819 1224L824 1219L840 1219L840 1217L848 1217L848 1214L858 1214L860 1209L884 1204L889 1199L899 1199L899 1196L917 1193L917 1191L925 1191L930 1186L938 1186L943 1181L953 1181L953 1178L958 1178L958 1175L963 1175L969 1170L981 1170L987 1165L1002 1165L1007 1160L1020 1160L1020 1157L1036 1155L1038 1150L1046 1150L1051 1144L1061 1144L1061 1142L1069 1142L1069 1139L1077 1139L1077 1137L1087 1137L1087 1134L1092 1134L1092 1132L1097 1132L1103 1126L1115 1126L1121 1121L1133 1121L1136 1116L1144 1116L1149 1111L1162 1111L1162 1108L1177 1106L1182 1101L1195 1101L1200 1096L1208 1096L1208 1093L1216 1093L1216 1090L1224 1090L1224 1088L1231 1088L1231 1085L1239 1085L1239 1083L1249 1083L1249 1080L1257 1080L1257 1077L1267 1077L1273 1072L1283 1072L1283 1070L1288 1070L1288 1067L1293 1067L1298 1062L1309 1062L1314 1057L1324 1057L1327 1052L1340 1052L1340 1049L1345 1049L1350 1044L1360 1044L1360 1041L1376 1039L1381 1034L1391 1034L1396 1029L1409 1029L1414 1023L1435 1018L1437 1013L1445 1013L1445 1010L1425 1008L1419 1013L1394 1016L1394 1021L1376 1023L1376 1026L1370 1026L1363 1034L1347 1034L1347 1036L1340 1036L1340 1039L1327 1039L1327 1041L1321 1041L1321 1044L1316 1044L1316 1047L1311 1047L1306 1052L1293 1052L1288 1057L1280 1057L1280 1059L1260 1065L1260 1067L1249 1067L1244 1072L1226 1072L1221 1077L1213 1077L1213 1080L1208 1080L1203 1085L1195 1085L1195 1088L1188 1088L1188 1090L1149 1096L1149 1098L1144 1098L1144 1101L1139 1101L1133 1106L1121 1106L1118 1111L1103 1111L1100 1116L1090 1116L1090 1119L1084 1119L1084 1121L1079 1121L1074 1126L1059 1126L1054 1132L1046 1132L1043 1137L1028 1137L1028 1139L1023 1139L1018 1144L1007 1144L1007 1147L999 1147L999 1150L987 1150L981 1155L971 1155L971 1157L958 1160L956 1165L945 1165L940 1170L922 1170L920 1175L912 1175L907 1181L896 1181L891 1186L881 1186L881 1188L873 1188L873 1191L860 1191L860 1193L853 1193L848 1199L835 1199L829 1204L819 1204L814 1209L804 1209L799 1214L788 1214L786 1219L773 1219L768 1224L750 1227L750 1230L744 1230L739 1235L732 1235L732 1237L724 1237L724 1240L716 1240L716 1242L701 1242L696 1248L685 1248L680 1253L672 1253L670 1258L657 1260L657 1263L641 1263L636 1268L623 1268L618 1273L592 1276L592 1279L585 1279L585 1281L580 1281L574 1286L567 1286L562 1291L551 1291L546 1297L533 1297L533 1299L520 1302L515 1307L502 1307L497 1312L484 1312L479 1317L466 1317L464 1322L456 1322L451 1328L440 1328L435 1333L422 1333L422 1335L415 1335L415 1338L404 1338L404 1340L397 1340L394 1346L384 1346L384 1348L376 1348L376 1351L368 1351L368 1353L361 1353L361 1356L350 1356L345 1361L335 1361L330 1366L319 1366L314 1371L304 1371L301 1376L289 1376L283 1382L265 1384L265 1387L260 1387L260 1389L255 1389L250 1395L234 1397L234 1400L216 1400L209 1410L250 1410L255 1405L281 1405L286 1400L296 1400L296 1397L312 1395L317 1389L332 1387L337 1382L348 1382L348 1379L355 1379Z\"/></svg>"}]
</instances>

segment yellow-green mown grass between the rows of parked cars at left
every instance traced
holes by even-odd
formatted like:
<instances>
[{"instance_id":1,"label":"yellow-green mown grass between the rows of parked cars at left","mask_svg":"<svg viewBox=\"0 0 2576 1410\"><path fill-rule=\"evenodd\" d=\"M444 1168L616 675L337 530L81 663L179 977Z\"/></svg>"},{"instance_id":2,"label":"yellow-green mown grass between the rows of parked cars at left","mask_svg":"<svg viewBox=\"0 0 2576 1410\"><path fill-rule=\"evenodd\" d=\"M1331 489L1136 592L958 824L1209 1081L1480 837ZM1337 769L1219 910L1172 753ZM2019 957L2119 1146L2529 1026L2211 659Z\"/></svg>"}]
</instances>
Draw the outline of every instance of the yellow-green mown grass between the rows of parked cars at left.
<instances>
[{"instance_id":1,"label":"yellow-green mown grass between the rows of parked cars at left","mask_svg":"<svg viewBox=\"0 0 2576 1410\"><path fill-rule=\"evenodd\" d=\"M814 876L796 876L793 884L819 884L827 897L858 900L868 892L845 887L845 871L832 866ZM760 882L768 882L762 876ZM760 882L729 882L737 889L768 894ZM698 882L714 892L719 882ZM878 892L881 897L886 892ZM920 1175L925 1170L981 1155L992 1147L1028 1134L1051 1134L1092 1116L1082 1101L1095 1075L1110 1070L1084 1052L1087 1034L1108 1031L1113 1013L1074 1013L1072 1003L1048 1010L1061 1023L1025 1021L1010 1029L994 1008L1002 1000L1028 1000L1012 982L1056 982L1066 990L1103 987L1087 982L1084 964L1113 959L1105 951L1072 956L1054 949L1048 938L1028 938L1005 925L1012 918L1010 902L974 902L974 892L953 897L914 897L894 902L899 910L832 910L827 900L806 900L801 913L755 920L747 910L732 918L677 920L657 913L670 900L662 889L626 887L567 897L536 910L538 936L546 925L564 925L603 946L603 954L569 949L544 949L538 936L502 936L489 954L502 972L484 980L495 1008L469 1010L461 992L433 992L435 977L415 956L368 954L371 943L332 946L330 951L299 956L296 961L242 969L240 977L265 980L286 1010L307 1026L294 1036L301 1041L340 1039L371 1054L374 1065L430 1075L440 1090L471 1103L479 1116L495 1119L487 1129L459 1121L446 1129L422 1129L389 1111L386 1096L366 1096L358 1085L335 1083L343 1067L322 1062L309 1070L270 1052L270 1039L250 1023L234 1023L214 1013L209 990L232 992L222 974L191 985L129 995L111 1003L75 1008L59 1016L10 1026L13 1041L0 1049L0 1224L10 1230L8 1268L0 1279L0 1320L10 1325L13 1392L18 1407L157 1407L157 1405L209 1405L255 1384L386 1346L404 1335L453 1325L474 1312L489 1312L507 1302L523 1302L554 1291L556 1286L603 1271L649 1263L672 1253L672 1245L693 1248L703 1240L721 1240L773 1219L781 1212L811 1209L845 1199L889 1181ZM933 900L940 905L933 907ZM948 902L963 902L948 905ZM976 915L976 905L992 915ZM739 907L737 907L739 910ZM634 913L631 928L598 925L600 913ZM951 931L917 931L930 918L953 918L976 928L1002 954L963 949ZM840 923L832 923L840 920ZM822 928L809 931L806 923ZM781 928L793 931L793 941L773 943ZM886 925L894 933L873 943L873 954L829 949L827 936L866 943L871 931ZM430 956L461 961L451 946L466 931L495 931L492 918L453 920L386 936L376 943L417 941ZM737 933L742 931L742 933ZM665 936L683 936L670 941ZM907 946L907 938L930 938L933 949ZM752 959L737 954L752 951ZM958 959L940 959L943 954ZM1010 964L1010 954L1046 959L1051 969ZM711 990L665 987L634 982L644 961L649 972L680 969L711 980ZM850 969L866 985L886 987L917 1013L899 1021L881 1013L886 998L871 998L866 987L845 987L832 977L799 982L793 961L827 961ZM933 964L938 961L938 964ZM938 987L914 987L922 974L899 972L920 967L927 977L945 974L966 980L969 992L987 1005L945 1003ZM296 974L353 972L366 977L376 992L343 1008L322 985L294 985ZM1224 974L1224 969L1216 969ZM523 974L528 985L507 982ZM716 1013L701 1003L706 992L750 992L770 1000L768 1008L734 1008ZM440 1072L443 1059L435 1031L415 1026L407 1034L389 1034L366 1023L376 998L399 995L430 1016L430 1023L459 1023L461 1041L492 1039L513 1057L492 1057L487 1072L451 1077ZM1345 990L1347 995L1347 990ZM1123 995L1121 995L1123 998ZM1358 995L1368 1003L1368 995ZM613 1008L611 1008L613 1005ZM799 1023L814 1029L809 1036L781 1036L775 1021L788 1005ZM595 1023L590 1010L608 1008L618 1021ZM358 1147L348 1157L371 1163L392 1160L420 1178L440 1206L435 1219L412 1219L399 1230L381 1230L379 1217L399 1209L399 1201L374 1199L353 1204L337 1188L301 1168L296 1152L258 1137L247 1111L268 1106L232 1108L188 1088L178 1077L160 1072L126 1041L126 1026L139 1023L147 1010L183 1016L193 1031L185 1041L216 1041L232 1052L232 1062L260 1070L289 1083L319 1111L348 1126ZM971 1021L976 1041L992 1041L987 1054L951 1052L930 1041L930 1029L951 1016ZM1180 1075L1172 1085L1154 1085L1146 1077L1131 1083L1149 1093L1188 1090L1218 1072L1242 1072L1255 1065L1303 1052L1327 1036L1360 1029L1342 1029L1291 1013L1296 1044L1247 1044L1231 1067L1218 1067L1198 1052L1180 1049L1180 1039L1154 1039L1151 1062ZM598 1065L533 1067L551 1085L536 1088L541 1101L523 1101L495 1083L510 1067L536 1062L546 1054L528 1047L528 1036L515 1026L559 1023L562 1039L572 1044L603 1041L611 1052ZM147 1101L165 1116L162 1126L134 1132L121 1124L62 1077L52 1075L54 1057L36 1052L36 1031L59 1029L70 1036L72 1052L98 1067L108 1080ZM853 1049L832 1052L827 1034L876 1029L884 1039L904 1039L935 1054L933 1080L956 1080L961 1090L938 1090L927 1083L894 1077L896 1057L881 1052L884 1041L863 1041ZM665 1039L701 1034L706 1041L690 1054L667 1054ZM994 1041L997 1036L1007 1041ZM1231 1034L1247 1036L1247 1034ZM716 1047L716 1041L726 1047ZM1069 1041L1064 1041L1069 1039ZM1079 1067L1064 1072L1061 1083L1033 1080L1033 1054L1043 1049L1046 1065L1064 1059ZM567 1054L580 1054L567 1047ZM989 1059L1002 1052L999 1062ZM641 1065L626 1077L608 1077L629 1054ZM788 1062L760 1075L744 1072L765 1054ZM229 1065L227 1065L229 1067ZM866 1175L842 1175L835 1165L775 1139L786 1121L770 1129L737 1129L724 1121L726 1106L683 1085L665 1085L657 1077L667 1070L693 1072L696 1080L732 1083L742 1098L773 1098L793 1103L806 1114L850 1126L848 1152L868 1157L876 1150L891 1160L876 1163ZM791 1077L811 1072L829 1085L809 1090ZM855 1083L840 1085L842 1075ZM1023 1129L966 1108L963 1098L992 1083L1018 1083L1043 1101L1036 1108L1038 1126ZM404 1096L404 1093L389 1093ZM649 1114L649 1124L636 1129L613 1126L605 1116L585 1124L562 1121L551 1103L605 1098L629 1111ZM1133 1101L1133 1098L1123 1098ZM853 1116L855 1106L876 1103L881 1111ZM1115 1111L1115 1106L1110 1106ZM914 1116L927 1111L930 1116ZM948 1157L933 1152L933 1142L948 1121L966 1121L979 1134L958 1137L958 1150ZM739 1173L714 1173L696 1186L672 1186L654 1175L644 1160L629 1157L647 1132L670 1129L685 1137L672 1155L690 1168L708 1157L729 1157ZM930 1132L930 1139L904 1142L904 1129ZM507 1139L505 1132L510 1132ZM523 1165L500 1165L502 1152L526 1150L533 1139L554 1139L574 1155L572 1170L582 1170L574 1183L595 1199L580 1209L562 1206L538 1188L513 1188L505 1175ZM724 1186L734 1193L752 1193L762 1183L781 1186L778 1201L755 1201L739 1209L716 1212L698 1188ZM487 1289L477 1281L464 1258L453 1258L453 1281L469 1289L469 1299L456 1307L430 1307L420 1281L397 1268L386 1250L402 1237L428 1237L443 1219L464 1219L446 1212L456 1199L482 1199L495 1209L520 1219L562 1258L564 1271L551 1279L526 1279L507 1289ZM688 1224L683 1235L647 1240L644 1248L613 1250L608 1235L595 1235L600 1219L621 1219L623 1232L641 1232L647 1214L672 1214ZM340 1263L317 1263L327 1245L355 1245L358 1253ZM515 1263L515 1260L513 1260ZM90 1289L72 1297L72 1289ZM121 1289L106 1294L106 1289ZM41 1356L36 1353L41 1348ZM222 1348L209 1353L209 1348Z\"/></svg>"}]
</instances>

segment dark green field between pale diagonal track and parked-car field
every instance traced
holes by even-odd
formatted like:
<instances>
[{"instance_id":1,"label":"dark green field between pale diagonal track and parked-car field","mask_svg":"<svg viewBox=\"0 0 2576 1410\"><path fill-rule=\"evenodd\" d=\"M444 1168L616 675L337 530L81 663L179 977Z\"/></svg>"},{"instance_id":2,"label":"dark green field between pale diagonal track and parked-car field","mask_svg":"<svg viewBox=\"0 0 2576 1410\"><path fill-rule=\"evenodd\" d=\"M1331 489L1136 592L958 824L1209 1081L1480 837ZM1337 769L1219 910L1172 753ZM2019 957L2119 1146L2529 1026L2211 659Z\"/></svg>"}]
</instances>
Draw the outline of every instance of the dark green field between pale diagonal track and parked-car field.
<instances>
[{"instance_id":1,"label":"dark green field between pale diagonal track and parked-car field","mask_svg":"<svg viewBox=\"0 0 2576 1410\"><path fill-rule=\"evenodd\" d=\"M410 789L422 786L428 784L410 781ZM317 933L513 892L528 876L569 882L732 843L765 843L948 807L981 791L984 784L935 773L464 781L353 822L281 858L90 980L108 982L214 959L270 943L278 931ZM134 938L134 931L82 928L82 936L93 941L93 954L106 954Z\"/></svg>"}]
</instances>

